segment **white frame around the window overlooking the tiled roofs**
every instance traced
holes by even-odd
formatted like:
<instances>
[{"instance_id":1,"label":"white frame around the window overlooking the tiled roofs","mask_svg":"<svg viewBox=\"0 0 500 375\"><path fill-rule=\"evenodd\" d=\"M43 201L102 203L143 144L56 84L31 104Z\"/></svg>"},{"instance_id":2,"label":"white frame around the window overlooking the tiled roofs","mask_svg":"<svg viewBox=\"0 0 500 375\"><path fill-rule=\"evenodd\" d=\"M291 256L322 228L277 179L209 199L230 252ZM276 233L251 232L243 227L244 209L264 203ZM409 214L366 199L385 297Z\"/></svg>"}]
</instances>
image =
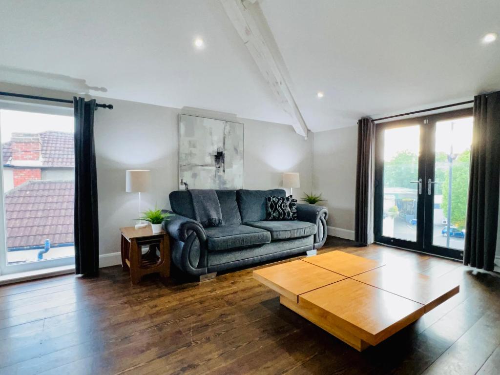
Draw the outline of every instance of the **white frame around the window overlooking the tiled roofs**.
<instances>
[{"instance_id":1,"label":"white frame around the window overlooking the tiled roofs","mask_svg":"<svg viewBox=\"0 0 500 375\"><path fill-rule=\"evenodd\" d=\"M0 109L18 110L24 112L36 112L46 114L59 114L73 116L73 108L68 106L31 104L25 102L11 102L0 100ZM1 124L0 124L1 126ZM3 155L0 136L0 155ZM3 157L2 157L3 159ZM59 266L74 266L74 255L55 259L42 259L25 263L7 263L7 226L5 219L5 196L3 192L3 161L0 163L0 275L7 275L18 272L29 272L43 270L45 268Z\"/></svg>"}]
</instances>

